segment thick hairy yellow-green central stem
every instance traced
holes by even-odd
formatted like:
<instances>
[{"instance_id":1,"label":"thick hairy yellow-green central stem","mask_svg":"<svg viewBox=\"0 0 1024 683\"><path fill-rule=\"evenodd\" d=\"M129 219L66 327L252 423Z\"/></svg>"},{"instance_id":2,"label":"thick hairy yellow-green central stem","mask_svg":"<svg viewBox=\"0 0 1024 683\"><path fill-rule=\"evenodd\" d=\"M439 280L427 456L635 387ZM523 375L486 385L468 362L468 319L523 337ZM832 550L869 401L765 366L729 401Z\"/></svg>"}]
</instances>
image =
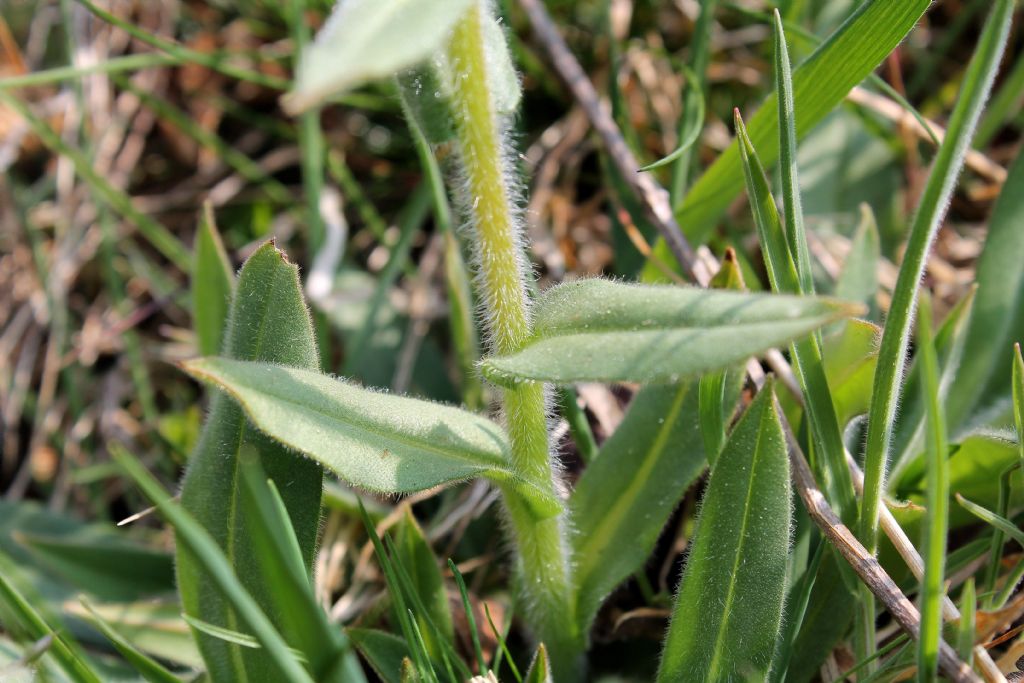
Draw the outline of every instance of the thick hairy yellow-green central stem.
<instances>
[{"instance_id":1,"label":"thick hairy yellow-green central stem","mask_svg":"<svg viewBox=\"0 0 1024 683\"><path fill-rule=\"evenodd\" d=\"M452 108L463 167L465 210L477 259L477 286L486 315L492 350L511 353L530 334L526 283L529 270L522 249L504 154L502 122L492 103L483 38L483 3L474 4L456 25L449 57L459 79ZM522 384L504 393L512 461L522 476L556 482L549 460L544 386ZM517 496L505 505L518 550L517 571L531 611L530 624L549 648L556 680L580 676L583 638L573 615L572 580L565 515L539 519Z\"/></svg>"}]
</instances>

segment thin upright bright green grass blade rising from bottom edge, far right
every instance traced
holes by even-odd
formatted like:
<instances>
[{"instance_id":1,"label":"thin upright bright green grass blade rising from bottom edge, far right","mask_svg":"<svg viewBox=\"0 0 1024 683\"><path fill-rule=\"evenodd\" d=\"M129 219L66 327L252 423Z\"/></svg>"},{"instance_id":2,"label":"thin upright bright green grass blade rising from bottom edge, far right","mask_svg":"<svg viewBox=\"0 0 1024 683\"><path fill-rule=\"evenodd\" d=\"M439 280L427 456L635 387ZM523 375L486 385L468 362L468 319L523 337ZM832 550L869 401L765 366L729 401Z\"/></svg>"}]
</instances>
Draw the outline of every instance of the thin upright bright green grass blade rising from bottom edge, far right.
<instances>
[{"instance_id":1,"label":"thin upright bright green grass blade rising from bottom edge, far right","mask_svg":"<svg viewBox=\"0 0 1024 683\"><path fill-rule=\"evenodd\" d=\"M932 306L922 297L918 312L918 349L924 376L927 408L928 498L922 556L925 575L921 582L921 636L918 639L918 680L931 683L939 671L942 640L942 600L945 591L946 535L949 530L949 444L945 413L939 399L939 362L932 340Z\"/></svg>"}]
</instances>

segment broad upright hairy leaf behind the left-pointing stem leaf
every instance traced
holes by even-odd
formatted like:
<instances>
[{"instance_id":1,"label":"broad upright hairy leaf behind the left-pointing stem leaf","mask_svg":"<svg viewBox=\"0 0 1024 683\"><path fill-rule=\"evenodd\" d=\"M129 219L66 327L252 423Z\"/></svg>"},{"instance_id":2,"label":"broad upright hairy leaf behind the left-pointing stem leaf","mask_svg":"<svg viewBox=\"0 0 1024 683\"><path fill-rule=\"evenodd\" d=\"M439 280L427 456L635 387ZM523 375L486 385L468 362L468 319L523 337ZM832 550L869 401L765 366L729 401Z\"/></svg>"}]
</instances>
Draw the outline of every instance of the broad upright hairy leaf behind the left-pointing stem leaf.
<instances>
[{"instance_id":1,"label":"broad upright hairy leaf behind the left-pointing stem leaf","mask_svg":"<svg viewBox=\"0 0 1024 683\"><path fill-rule=\"evenodd\" d=\"M302 298L298 268L272 243L260 247L239 273L228 314L224 353L230 357L274 361L303 368L318 366L312 325ZM181 506L224 550L242 585L279 628L273 589L259 569L250 521L240 505L239 455L252 449L279 484L299 540L306 571L312 563L319 525L324 475L321 467L283 447L249 424L227 396L215 395L203 433L181 485ZM199 558L183 544L177 554L178 591L185 613L214 626L239 631L238 617L211 583ZM207 636L200 649L215 681L245 676L264 680L273 668L264 650L242 651Z\"/></svg>"}]
</instances>

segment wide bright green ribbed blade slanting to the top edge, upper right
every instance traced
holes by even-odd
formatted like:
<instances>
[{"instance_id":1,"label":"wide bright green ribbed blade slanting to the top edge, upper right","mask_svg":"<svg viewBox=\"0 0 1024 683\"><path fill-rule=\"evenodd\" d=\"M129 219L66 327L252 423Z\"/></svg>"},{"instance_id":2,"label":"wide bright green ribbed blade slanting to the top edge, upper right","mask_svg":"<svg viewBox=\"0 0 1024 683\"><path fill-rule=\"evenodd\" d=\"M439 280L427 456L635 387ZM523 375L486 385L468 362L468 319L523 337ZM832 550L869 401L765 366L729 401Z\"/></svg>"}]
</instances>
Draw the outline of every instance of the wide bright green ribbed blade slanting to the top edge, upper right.
<instances>
[{"instance_id":1,"label":"wide bright green ribbed blade slanting to the top edge, upper right","mask_svg":"<svg viewBox=\"0 0 1024 683\"><path fill-rule=\"evenodd\" d=\"M930 0L867 0L793 74L793 99L800 118L798 139L807 135L847 93L863 81L913 29ZM775 162L778 118L775 95L770 95L751 119L751 139ZM677 212L680 225L693 244L703 244L718 219L743 187L739 145L733 141L694 183ZM656 255L671 258L658 243Z\"/></svg>"}]
</instances>

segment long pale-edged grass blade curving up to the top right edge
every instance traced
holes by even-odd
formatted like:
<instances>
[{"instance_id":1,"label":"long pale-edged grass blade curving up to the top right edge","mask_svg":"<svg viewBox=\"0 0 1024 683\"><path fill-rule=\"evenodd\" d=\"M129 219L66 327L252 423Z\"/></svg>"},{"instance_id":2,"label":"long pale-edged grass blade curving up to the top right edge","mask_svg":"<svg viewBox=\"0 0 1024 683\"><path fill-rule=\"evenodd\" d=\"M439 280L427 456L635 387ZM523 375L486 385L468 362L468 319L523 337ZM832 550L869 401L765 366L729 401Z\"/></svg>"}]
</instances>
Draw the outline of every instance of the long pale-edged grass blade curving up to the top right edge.
<instances>
[{"instance_id":1,"label":"long pale-edged grass blade curving up to the top right edge","mask_svg":"<svg viewBox=\"0 0 1024 683\"><path fill-rule=\"evenodd\" d=\"M996 0L971 59L953 109L946 137L936 157L910 227L903 263L879 350L871 390L864 454L864 493L860 538L869 551L878 546L879 504L885 486L886 462L892 440L901 375L909 343L918 284L932 240L942 221L970 146L981 110L991 89L1010 32L1014 3Z\"/></svg>"}]
</instances>

